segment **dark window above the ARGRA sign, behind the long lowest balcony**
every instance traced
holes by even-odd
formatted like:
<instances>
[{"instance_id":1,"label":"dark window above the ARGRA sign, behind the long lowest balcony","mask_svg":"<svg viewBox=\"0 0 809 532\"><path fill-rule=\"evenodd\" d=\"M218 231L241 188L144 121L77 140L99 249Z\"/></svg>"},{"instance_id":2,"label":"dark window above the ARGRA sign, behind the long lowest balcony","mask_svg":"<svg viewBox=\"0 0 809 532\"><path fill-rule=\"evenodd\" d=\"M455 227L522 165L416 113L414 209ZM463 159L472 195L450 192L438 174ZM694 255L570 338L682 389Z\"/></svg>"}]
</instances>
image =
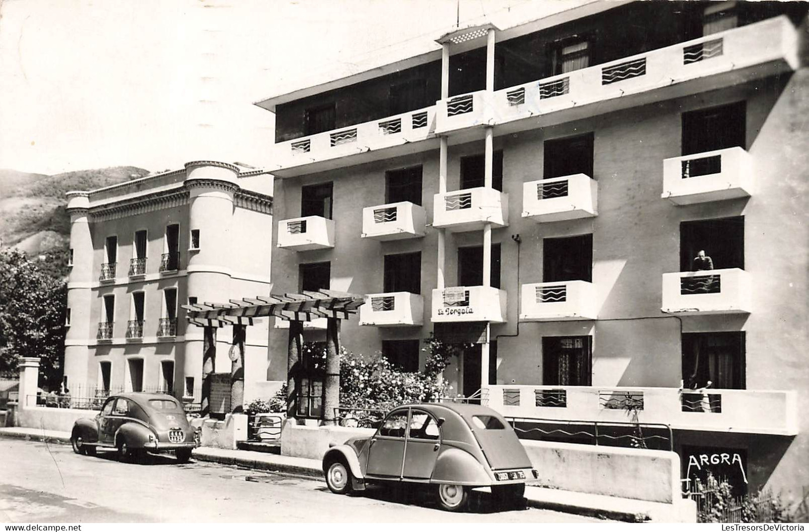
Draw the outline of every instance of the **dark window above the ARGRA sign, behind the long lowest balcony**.
<instances>
[{"instance_id":1,"label":"dark window above the ARGRA sign, behind the long lowest balcony","mask_svg":"<svg viewBox=\"0 0 809 532\"><path fill-rule=\"evenodd\" d=\"M743 390L744 332L683 334L683 386Z\"/></svg>"}]
</instances>

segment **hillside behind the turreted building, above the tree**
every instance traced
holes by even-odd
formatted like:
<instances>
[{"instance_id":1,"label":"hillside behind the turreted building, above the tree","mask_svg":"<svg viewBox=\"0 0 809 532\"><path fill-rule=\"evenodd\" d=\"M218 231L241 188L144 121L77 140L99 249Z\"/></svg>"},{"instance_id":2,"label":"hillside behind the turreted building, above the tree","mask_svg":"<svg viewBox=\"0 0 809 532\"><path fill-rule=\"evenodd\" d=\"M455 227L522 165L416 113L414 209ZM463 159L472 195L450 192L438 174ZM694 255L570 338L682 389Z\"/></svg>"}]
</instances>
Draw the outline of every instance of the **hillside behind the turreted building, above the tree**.
<instances>
[{"instance_id":1,"label":"hillside behind the turreted building, above the tree","mask_svg":"<svg viewBox=\"0 0 809 532\"><path fill-rule=\"evenodd\" d=\"M64 251L70 237L65 192L106 187L147 174L138 167L56 175L0 169L0 241L32 255Z\"/></svg>"}]
</instances>

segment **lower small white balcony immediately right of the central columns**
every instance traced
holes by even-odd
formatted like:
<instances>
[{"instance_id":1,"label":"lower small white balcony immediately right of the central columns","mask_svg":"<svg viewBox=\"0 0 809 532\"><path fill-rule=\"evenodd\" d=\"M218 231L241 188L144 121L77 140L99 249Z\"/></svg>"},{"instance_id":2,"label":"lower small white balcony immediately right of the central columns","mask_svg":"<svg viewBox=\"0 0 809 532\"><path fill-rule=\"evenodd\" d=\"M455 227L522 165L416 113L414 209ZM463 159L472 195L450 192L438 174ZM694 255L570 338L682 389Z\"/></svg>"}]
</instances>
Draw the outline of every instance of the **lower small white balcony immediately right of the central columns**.
<instances>
[{"instance_id":1,"label":"lower small white balcony immediately right of the central columns","mask_svg":"<svg viewBox=\"0 0 809 532\"><path fill-rule=\"evenodd\" d=\"M559 281L523 285L524 322L597 319L595 286L587 281Z\"/></svg>"}]
</instances>

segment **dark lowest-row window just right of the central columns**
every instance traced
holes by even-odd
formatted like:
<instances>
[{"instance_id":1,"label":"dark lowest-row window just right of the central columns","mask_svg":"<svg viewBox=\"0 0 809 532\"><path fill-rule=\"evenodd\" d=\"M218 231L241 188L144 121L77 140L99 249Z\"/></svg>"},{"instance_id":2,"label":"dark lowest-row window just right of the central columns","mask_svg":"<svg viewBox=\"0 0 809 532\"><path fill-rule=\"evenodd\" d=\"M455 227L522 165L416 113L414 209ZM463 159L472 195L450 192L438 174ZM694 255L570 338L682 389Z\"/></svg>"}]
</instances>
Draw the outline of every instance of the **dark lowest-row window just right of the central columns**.
<instances>
[{"instance_id":1,"label":"dark lowest-row window just right of the central columns","mask_svg":"<svg viewBox=\"0 0 809 532\"><path fill-rule=\"evenodd\" d=\"M544 336L542 383L545 386L592 386L590 336Z\"/></svg>"}]
</instances>

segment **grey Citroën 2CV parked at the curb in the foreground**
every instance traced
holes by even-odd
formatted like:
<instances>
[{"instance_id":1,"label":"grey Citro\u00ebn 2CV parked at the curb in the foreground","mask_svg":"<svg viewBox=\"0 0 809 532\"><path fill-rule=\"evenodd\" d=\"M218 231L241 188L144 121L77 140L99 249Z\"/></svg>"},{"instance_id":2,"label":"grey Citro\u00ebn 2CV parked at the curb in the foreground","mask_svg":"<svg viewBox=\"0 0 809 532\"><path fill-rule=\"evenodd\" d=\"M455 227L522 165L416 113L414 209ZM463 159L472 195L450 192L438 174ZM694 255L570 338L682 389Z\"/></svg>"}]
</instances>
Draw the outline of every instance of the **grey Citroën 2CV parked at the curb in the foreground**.
<instances>
[{"instance_id":1,"label":"grey Citro\u00ebn 2CV parked at the curb in the foreground","mask_svg":"<svg viewBox=\"0 0 809 532\"><path fill-rule=\"evenodd\" d=\"M328 488L348 493L367 483L413 483L434 491L438 505L460 511L473 488L489 487L499 504L523 500L537 478L514 429L489 407L411 404L385 416L371 437L354 437L323 458Z\"/></svg>"}]
</instances>

